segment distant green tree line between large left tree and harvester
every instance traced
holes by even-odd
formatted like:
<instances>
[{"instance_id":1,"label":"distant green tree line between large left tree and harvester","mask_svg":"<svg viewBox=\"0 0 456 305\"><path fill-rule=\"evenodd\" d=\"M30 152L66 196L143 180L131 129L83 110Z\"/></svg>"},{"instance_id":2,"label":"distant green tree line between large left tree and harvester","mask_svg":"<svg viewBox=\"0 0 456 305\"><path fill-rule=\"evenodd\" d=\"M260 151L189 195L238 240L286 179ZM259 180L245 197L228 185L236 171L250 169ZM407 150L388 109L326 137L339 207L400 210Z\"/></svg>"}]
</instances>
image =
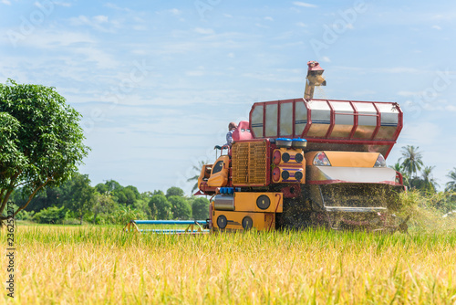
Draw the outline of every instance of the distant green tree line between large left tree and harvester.
<instances>
[{"instance_id":1,"label":"distant green tree line between large left tree and harvester","mask_svg":"<svg viewBox=\"0 0 456 305\"><path fill-rule=\"evenodd\" d=\"M28 199L26 189L10 196L17 206ZM209 200L188 197L179 187L140 193L135 186L115 180L90 185L87 174L73 174L65 183L47 187L21 211L16 219L54 224L127 224L131 219L206 219Z\"/></svg>"}]
</instances>

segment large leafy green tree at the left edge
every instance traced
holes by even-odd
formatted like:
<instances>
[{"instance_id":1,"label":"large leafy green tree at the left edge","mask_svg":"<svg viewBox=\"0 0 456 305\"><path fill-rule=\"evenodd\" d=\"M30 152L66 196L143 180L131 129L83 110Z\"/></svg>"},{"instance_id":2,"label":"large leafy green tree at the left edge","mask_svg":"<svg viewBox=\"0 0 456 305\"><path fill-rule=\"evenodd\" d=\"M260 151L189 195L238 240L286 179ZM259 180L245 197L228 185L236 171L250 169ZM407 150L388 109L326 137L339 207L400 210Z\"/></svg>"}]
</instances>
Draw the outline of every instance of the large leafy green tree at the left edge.
<instances>
[{"instance_id":1,"label":"large leafy green tree at the left edge","mask_svg":"<svg viewBox=\"0 0 456 305\"><path fill-rule=\"evenodd\" d=\"M81 115L54 88L0 84L0 219L12 192L22 186L26 208L36 193L78 170L88 154Z\"/></svg>"}]
</instances>

